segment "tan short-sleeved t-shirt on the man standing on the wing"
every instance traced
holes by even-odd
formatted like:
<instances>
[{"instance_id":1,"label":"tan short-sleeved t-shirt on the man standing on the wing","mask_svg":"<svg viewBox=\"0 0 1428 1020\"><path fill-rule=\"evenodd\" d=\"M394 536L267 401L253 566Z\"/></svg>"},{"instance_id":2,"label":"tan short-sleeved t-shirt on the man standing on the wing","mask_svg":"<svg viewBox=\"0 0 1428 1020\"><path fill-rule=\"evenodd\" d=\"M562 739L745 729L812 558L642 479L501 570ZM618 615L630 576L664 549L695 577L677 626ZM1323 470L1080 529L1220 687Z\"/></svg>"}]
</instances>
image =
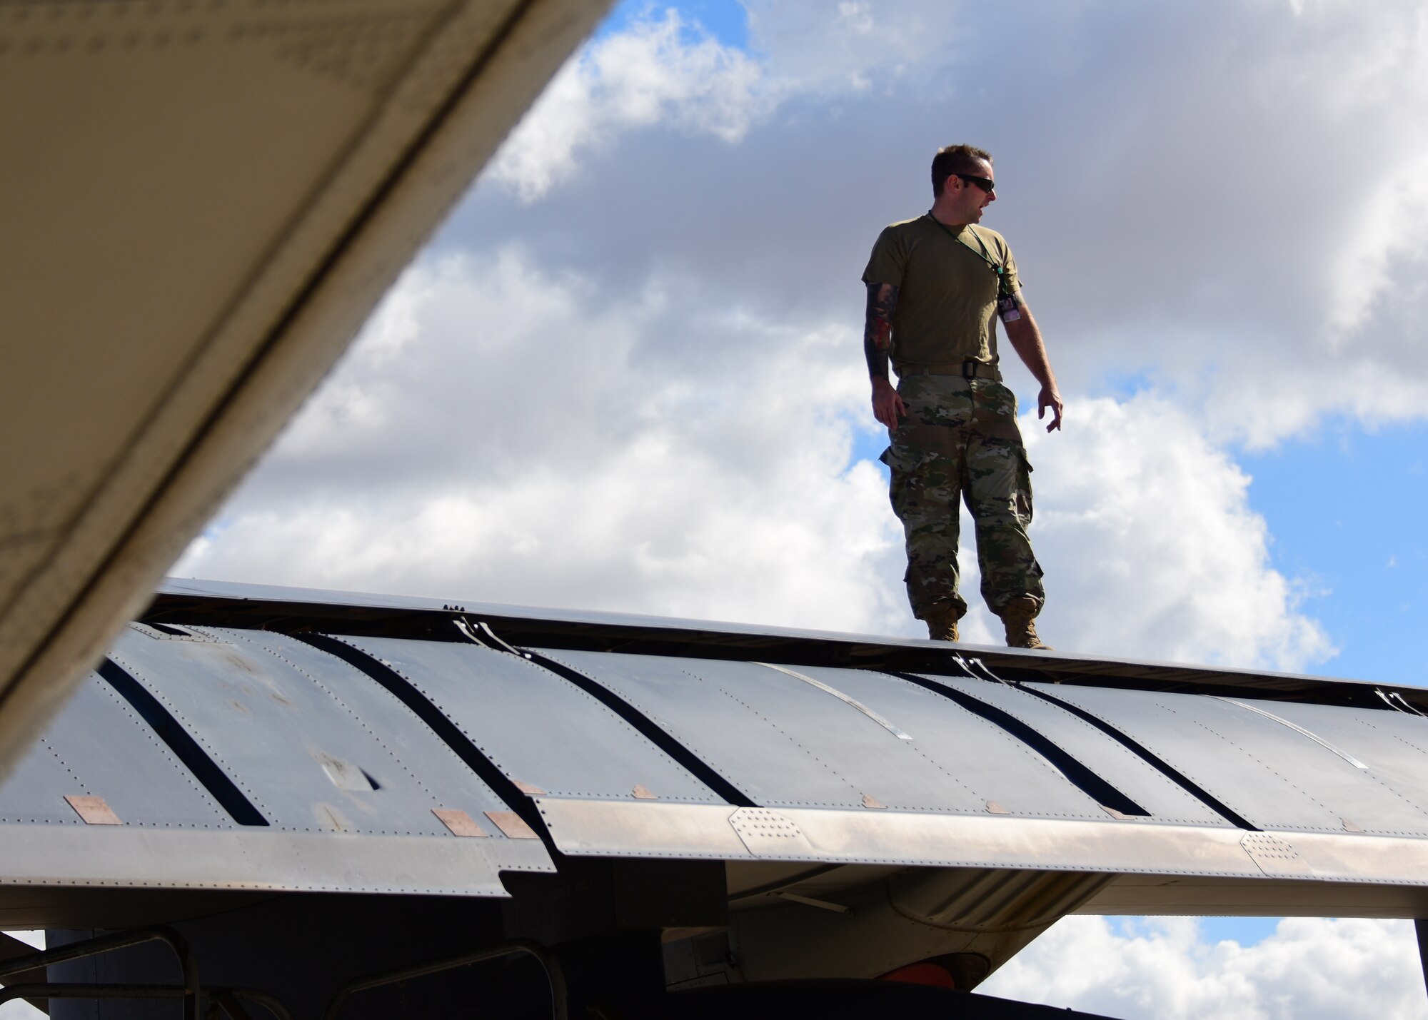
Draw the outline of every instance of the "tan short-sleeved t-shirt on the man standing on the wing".
<instances>
[{"instance_id":1,"label":"tan short-sleeved t-shirt on the man standing on the wing","mask_svg":"<svg viewBox=\"0 0 1428 1020\"><path fill-rule=\"evenodd\" d=\"M978 239L1004 267L1010 290L1020 290L1017 260L995 230L944 227L924 214L878 234L863 281L898 289L891 350L898 376L905 366L997 364L997 273Z\"/></svg>"}]
</instances>

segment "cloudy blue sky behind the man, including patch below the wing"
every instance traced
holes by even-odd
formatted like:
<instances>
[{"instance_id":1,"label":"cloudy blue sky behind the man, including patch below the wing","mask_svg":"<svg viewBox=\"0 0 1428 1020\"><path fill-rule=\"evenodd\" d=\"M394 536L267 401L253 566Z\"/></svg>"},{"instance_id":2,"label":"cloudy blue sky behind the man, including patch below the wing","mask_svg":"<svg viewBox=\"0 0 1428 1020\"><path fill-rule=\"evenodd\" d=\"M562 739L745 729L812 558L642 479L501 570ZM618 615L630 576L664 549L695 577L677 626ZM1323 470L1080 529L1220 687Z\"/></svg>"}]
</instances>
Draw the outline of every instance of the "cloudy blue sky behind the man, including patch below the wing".
<instances>
[{"instance_id":1,"label":"cloudy blue sky behind the man, including patch below the wing","mask_svg":"<svg viewBox=\"0 0 1428 1020\"><path fill-rule=\"evenodd\" d=\"M1419 0L623 3L174 573L918 633L858 277L972 141L1067 397L1045 639L1428 683L1425 123ZM995 990L1428 1016L1409 931L1072 919Z\"/></svg>"}]
</instances>

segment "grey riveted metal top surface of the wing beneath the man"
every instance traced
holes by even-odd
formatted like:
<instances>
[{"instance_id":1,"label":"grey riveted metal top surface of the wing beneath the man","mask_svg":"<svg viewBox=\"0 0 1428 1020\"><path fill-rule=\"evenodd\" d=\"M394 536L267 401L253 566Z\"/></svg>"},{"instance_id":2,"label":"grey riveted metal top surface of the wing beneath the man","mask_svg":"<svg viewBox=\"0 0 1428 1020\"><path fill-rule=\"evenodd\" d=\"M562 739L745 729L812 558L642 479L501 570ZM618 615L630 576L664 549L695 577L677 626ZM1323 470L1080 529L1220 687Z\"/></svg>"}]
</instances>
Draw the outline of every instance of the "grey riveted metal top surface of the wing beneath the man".
<instances>
[{"instance_id":1,"label":"grey riveted metal top surface of the wing beneath the man","mask_svg":"<svg viewBox=\"0 0 1428 1020\"><path fill-rule=\"evenodd\" d=\"M1428 719L1371 686L320 594L166 589L0 789L4 824L297 840L330 876L348 844L460 846L497 894L490 869L548 853L1174 876L1167 903L1201 883L1215 909L1335 884L1379 914L1428 874Z\"/></svg>"}]
</instances>

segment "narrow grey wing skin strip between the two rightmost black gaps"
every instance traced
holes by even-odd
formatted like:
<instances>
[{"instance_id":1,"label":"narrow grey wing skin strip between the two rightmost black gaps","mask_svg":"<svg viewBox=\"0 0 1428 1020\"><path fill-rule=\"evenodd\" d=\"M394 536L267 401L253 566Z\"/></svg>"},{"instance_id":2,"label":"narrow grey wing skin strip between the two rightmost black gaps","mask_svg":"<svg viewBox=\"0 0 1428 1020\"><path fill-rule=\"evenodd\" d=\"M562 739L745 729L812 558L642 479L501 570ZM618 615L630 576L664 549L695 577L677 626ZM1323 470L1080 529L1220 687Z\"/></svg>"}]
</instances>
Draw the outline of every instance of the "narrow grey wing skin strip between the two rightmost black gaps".
<instances>
[{"instance_id":1,"label":"narrow grey wing skin strip between the two rightmost black gaps","mask_svg":"<svg viewBox=\"0 0 1428 1020\"><path fill-rule=\"evenodd\" d=\"M1150 811L1155 821L1230 826L1230 821L1222 819L1218 811L1172 781L1165 773L1151 767L1125 744L1057 704L990 680L948 676L930 676L928 679L1000 709L1037 730Z\"/></svg>"}]
</instances>

